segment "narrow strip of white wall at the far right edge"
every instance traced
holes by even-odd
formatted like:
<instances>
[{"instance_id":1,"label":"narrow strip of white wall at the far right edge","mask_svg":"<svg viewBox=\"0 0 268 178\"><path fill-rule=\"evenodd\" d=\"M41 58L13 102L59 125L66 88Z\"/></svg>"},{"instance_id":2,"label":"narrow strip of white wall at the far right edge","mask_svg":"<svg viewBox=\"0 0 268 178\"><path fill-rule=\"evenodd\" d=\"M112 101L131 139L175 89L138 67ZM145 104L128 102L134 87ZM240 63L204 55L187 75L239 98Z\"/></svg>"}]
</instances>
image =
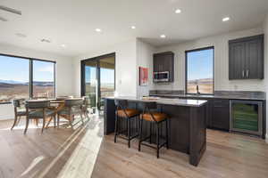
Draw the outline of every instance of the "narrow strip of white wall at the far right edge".
<instances>
[{"instance_id":1,"label":"narrow strip of white wall at the far right edge","mask_svg":"<svg viewBox=\"0 0 268 178\"><path fill-rule=\"evenodd\" d=\"M265 69L268 69L268 13L264 20L264 59ZM268 72L265 71L265 81L268 83ZM266 87L266 93L268 93L268 86ZM266 113L268 111L268 104L266 102ZM268 142L268 113L266 114L266 140Z\"/></svg>"}]
</instances>

